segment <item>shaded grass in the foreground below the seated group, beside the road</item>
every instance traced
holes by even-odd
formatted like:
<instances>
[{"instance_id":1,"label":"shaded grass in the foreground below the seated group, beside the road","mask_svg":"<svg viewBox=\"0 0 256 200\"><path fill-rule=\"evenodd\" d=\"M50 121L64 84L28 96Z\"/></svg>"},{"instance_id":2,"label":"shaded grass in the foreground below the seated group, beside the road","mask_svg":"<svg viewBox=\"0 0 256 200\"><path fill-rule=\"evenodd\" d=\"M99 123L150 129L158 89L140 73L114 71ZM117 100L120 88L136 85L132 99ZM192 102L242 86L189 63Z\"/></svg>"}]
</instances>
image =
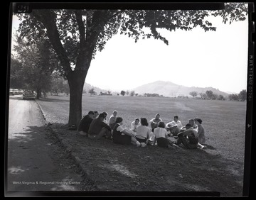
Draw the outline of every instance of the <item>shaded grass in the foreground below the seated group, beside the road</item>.
<instances>
[{"instance_id":1,"label":"shaded grass in the foreground below the seated group, beside the road","mask_svg":"<svg viewBox=\"0 0 256 200\"><path fill-rule=\"evenodd\" d=\"M219 191L242 196L242 162L206 150L137 148L90 140L62 123L50 127L68 145L101 191Z\"/></svg>"}]
</instances>

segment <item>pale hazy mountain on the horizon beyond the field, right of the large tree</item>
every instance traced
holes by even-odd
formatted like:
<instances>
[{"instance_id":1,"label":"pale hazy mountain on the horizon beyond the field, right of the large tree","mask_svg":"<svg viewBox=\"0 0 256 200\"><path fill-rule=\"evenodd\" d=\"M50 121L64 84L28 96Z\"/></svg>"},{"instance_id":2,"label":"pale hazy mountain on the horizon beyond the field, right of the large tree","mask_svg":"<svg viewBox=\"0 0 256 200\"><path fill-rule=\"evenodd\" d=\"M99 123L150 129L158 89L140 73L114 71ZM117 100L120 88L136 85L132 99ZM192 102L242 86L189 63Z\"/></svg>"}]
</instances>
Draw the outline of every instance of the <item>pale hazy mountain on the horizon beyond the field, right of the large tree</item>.
<instances>
[{"instance_id":1,"label":"pale hazy mountain on the horizon beyond the field, right of the large tree","mask_svg":"<svg viewBox=\"0 0 256 200\"><path fill-rule=\"evenodd\" d=\"M225 93L224 91L220 91L218 89L215 89L213 87L185 87L182 85L174 84L172 82L163 82L163 81L157 81L152 82L149 84L144 84L140 87L136 87L134 89L135 93L138 94L144 94L144 93L151 93L151 94L159 94L163 96L191 96L189 93L191 91L197 91L199 93L206 93L207 90L213 91L213 94L228 96L228 93Z\"/></svg>"}]
</instances>

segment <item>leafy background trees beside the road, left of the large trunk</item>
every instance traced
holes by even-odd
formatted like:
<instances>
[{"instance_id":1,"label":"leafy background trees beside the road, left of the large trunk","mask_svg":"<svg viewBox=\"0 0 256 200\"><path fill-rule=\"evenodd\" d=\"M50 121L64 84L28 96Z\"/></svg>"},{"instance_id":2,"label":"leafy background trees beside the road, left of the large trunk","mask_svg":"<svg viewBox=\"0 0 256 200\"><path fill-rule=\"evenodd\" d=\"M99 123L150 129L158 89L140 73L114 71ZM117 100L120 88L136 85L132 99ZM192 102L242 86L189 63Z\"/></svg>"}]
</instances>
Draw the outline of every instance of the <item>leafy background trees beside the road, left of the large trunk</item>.
<instances>
[{"instance_id":1,"label":"leafy background trees beside the road, left of the large trunk","mask_svg":"<svg viewBox=\"0 0 256 200\"><path fill-rule=\"evenodd\" d=\"M37 99L49 92L68 96L68 81L55 70L60 63L48 40L35 40L27 45L26 40L15 37L17 45L14 45L15 55L11 55L10 87L34 90Z\"/></svg>"}]
</instances>

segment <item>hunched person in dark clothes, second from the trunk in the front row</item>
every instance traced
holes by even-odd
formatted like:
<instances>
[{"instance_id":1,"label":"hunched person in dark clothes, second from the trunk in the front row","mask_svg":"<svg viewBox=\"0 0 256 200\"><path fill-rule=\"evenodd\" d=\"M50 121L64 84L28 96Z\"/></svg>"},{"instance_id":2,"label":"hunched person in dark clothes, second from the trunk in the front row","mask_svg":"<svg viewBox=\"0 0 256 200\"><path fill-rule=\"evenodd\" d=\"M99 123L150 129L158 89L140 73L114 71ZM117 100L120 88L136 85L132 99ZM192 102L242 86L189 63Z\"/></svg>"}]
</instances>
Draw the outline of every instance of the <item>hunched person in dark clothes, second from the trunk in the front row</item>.
<instances>
[{"instance_id":1,"label":"hunched person in dark clothes, second from the trunk in the front row","mask_svg":"<svg viewBox=\"0 0 256 200\"><path fill-rule=\"evenodd\" d=\"M111 138L111 128L107 123L103 122L104 118L105 115L100 113L100 115L92 121L88 130L88 138L92 140L99 140L103 136L106 136L109 139Z\"/></svg>"}]
</instances>

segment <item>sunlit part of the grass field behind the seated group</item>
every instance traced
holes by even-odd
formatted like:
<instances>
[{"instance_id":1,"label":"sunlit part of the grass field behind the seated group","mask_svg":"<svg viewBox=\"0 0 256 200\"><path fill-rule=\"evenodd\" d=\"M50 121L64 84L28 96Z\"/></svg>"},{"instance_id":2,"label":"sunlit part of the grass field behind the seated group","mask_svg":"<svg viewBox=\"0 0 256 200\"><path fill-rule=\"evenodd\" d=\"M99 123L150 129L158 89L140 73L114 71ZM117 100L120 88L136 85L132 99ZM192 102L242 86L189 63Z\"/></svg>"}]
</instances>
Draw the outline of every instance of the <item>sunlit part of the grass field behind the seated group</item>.
<instances>
[{"instance_id":1,"label":"sunlit part of the grass field behind the seated group","mask_svg":"<svg viewBox=\"0 0 256 200\"><path fill-rule=\"evenodd\" d=\"M43 111L52 119L51 123L68 123L69 97L48 96L38 101ZM145 117L148 121L156 113L165 122L173 121L177 115L183 125L190 118L201 118L206 130L208 151L243 162L245 150L246 103L237 101L211 101L201 99L172 99L142 96L90 96L82 97L82 115L88 111L112 111L124 119L130 128L134 118Z\"/></svg>"}]
</instances>

